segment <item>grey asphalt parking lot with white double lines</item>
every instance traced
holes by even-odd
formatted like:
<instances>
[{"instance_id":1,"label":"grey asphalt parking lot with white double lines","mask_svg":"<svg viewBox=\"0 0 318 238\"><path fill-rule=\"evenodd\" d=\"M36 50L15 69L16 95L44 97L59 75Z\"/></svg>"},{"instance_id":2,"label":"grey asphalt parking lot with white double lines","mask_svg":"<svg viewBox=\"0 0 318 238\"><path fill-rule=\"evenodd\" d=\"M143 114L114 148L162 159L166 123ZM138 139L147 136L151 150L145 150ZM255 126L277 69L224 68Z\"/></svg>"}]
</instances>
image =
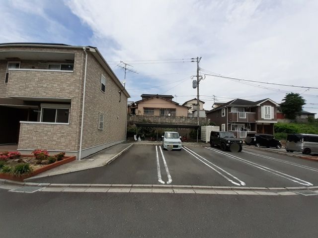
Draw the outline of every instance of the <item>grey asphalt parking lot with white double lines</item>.
<instances>
[{"instance_id":1,"label":"grey asphalt parking lot with white double lines","mask_svg":"<svg viewBox=\"0 0 318 238\"><path fill-rule=\"evenodd\" d=\"M164 151L159 145L134 145L108 166L31 181L298 187L317 185L317 175L317 162L255 147L232 153L210 146Z\"/></svg>"}]
</instances>

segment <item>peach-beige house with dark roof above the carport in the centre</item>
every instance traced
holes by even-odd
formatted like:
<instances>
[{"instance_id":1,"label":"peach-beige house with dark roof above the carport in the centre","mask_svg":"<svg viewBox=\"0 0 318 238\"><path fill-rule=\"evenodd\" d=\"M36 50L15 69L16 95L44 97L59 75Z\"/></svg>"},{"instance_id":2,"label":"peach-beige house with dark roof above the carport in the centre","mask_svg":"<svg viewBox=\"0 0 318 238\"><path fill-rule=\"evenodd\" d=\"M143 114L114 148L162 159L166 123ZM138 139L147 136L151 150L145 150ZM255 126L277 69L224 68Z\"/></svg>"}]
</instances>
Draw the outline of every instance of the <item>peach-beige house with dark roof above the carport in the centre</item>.
<instances>
[{"instance_id":1,"label":"peach-beige house with dark roof above the carport in the centre","mask_svg":"<svg viewBox=\"0 0 318 238\"><path fill-rule=\"evenodd\" d=\"M145 95L145 94L143 94ZM172 101L171 95L147 94L142 100L135 102L136 115L164 116L164 117L188 117L188 107L181 106Z\"/></svg>"}]
</instances>

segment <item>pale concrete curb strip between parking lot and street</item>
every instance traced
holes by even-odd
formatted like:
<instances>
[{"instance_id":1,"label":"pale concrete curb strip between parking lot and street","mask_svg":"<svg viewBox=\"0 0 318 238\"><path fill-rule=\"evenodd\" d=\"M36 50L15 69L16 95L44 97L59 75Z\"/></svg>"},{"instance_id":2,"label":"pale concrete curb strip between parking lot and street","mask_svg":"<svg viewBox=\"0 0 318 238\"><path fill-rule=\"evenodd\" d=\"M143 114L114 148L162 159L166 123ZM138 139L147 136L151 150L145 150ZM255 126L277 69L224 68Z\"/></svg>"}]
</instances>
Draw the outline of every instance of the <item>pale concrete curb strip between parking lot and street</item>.
<instances>
[{"instance_id":1,"label":"pale concrete curb strip between parking lot and street","mask_svg":"<svg viewBox=\"0 0 318 238\"><path fill-rule=\"evenodd\" d=\"M46 187L158 187L158 188L205 188L215 190L308 190L318 189L318 186L310 187L234 187L234 186L201 186L201 185L163 185L163 184L94 184L94 183L41 183L41 182L19 182L8 179L0 179L0 184L14 184L21 186L46 186Z\"/></svg>"}]
</instances>

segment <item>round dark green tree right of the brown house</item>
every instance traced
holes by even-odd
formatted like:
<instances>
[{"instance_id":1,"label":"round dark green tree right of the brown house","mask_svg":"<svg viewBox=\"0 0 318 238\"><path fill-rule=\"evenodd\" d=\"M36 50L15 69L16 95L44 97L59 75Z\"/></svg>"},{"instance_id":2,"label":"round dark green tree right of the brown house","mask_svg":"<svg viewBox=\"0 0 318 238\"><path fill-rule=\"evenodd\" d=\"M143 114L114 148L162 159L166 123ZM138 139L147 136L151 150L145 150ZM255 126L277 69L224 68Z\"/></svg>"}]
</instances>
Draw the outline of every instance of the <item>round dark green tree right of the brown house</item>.
<instances>
[{"instance_id":1,"label":"round dark green tree right of the brown house","mask_svg":"<svg viewBox=\"0 0 318 238\"><path fill-rule=\"evenodd\" d=\"M295 119L303 110L305 102L306 100L299 93L287 93L280 106L286 118Z\"/></svg>"}]
</instances>

